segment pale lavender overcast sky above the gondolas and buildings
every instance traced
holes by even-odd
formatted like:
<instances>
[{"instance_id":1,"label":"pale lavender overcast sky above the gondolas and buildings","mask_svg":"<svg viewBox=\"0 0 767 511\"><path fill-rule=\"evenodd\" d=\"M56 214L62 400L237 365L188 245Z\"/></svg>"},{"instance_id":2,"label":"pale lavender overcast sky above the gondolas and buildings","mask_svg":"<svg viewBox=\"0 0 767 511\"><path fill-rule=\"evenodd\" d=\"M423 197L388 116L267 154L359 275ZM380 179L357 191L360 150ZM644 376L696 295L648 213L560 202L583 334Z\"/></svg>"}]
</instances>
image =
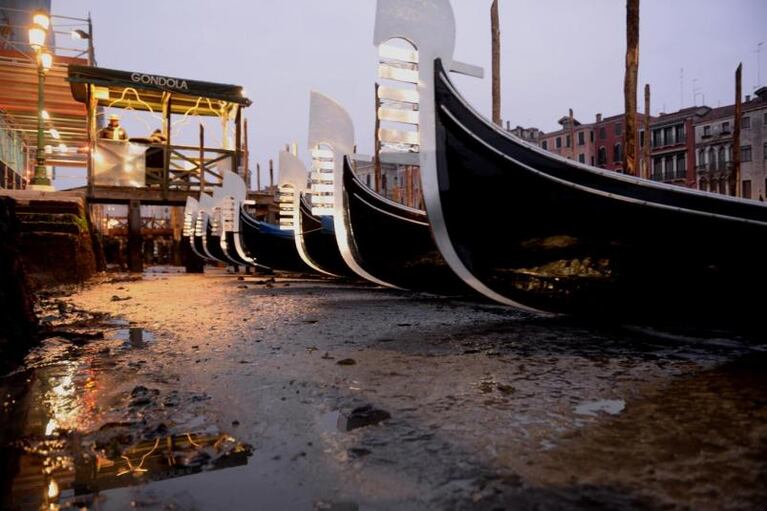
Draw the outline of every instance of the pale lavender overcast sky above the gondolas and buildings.
<instances>
[{"instance_id":1,"label":"pale lavender overcast sky above the gondolas and buildings","mask_svg":"<svg viewBox=\"0 0 767 511\"><path fill-rule=\"evenodd\" d=\"M452 3L456 58L486 70L484 80L456 82L489 116L491 2ZM568 108L582 122L623 110L625 1L500 0L500 7L504 120L551 131ZM100 66L244 86L253 100L253 167L276 160L286 142L298 142L308 159L311 89L347 108L359 152L372 151L375 0L53 0L52 10L91 13ZM767 0L642 0L639 88L652 85L653 114L692 105L694 92L698 104L703 95L710 106L733 102L741 61L744 94L751 93L765 20ZM761 63L765 83L767 45Z\"/></svg>"}]
</instances>

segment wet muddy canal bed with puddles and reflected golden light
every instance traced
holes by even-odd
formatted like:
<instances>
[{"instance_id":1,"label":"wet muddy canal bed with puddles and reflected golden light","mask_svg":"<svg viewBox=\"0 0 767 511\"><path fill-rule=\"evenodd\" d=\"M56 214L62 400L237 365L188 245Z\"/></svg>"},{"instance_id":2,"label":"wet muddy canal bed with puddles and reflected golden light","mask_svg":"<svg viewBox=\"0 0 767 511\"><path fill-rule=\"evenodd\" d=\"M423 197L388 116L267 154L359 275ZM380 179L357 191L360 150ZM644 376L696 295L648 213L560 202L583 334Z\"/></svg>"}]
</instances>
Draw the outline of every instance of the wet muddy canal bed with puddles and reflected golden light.
<instances>
[{"instance_id":1,"label":"wet muddy canal bed with puddles and reflected golden light","mask_svg":"<svg viewBox=\"0 0 767 511\"><path fill-rule=\"evenodd\" d=\"M3 379L7 507L767 503L759 340L222 273L57 308L104 337L50 339Z\"/></svg>"}]
</instances>

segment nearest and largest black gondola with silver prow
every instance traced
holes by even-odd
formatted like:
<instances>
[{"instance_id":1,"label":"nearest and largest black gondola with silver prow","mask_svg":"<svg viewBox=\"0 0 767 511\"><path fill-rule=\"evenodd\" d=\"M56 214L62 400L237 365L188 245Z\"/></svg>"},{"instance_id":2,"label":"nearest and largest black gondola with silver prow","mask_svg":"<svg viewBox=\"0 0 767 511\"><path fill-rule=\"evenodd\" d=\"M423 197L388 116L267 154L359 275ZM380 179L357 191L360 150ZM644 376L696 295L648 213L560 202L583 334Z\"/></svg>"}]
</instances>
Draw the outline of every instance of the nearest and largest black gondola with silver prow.
<instances>
[{"instance_id":1,"label":"nearest and largest black gondola with silver prow","mask_svg":"<svg viewBox=\"0 0 767 511\"><path fill-rule=\"evenodd\" d=\"M428 4L428 5L426 5ZM406 17L418 6L421 19ZM575 163L482 118L448 77L447 0L379 0L376 43L418 48L429 224L467 284L502 303L600 318L760 316L767 206ZM418 18L416 16L415 18Z\"/></svg>"}]
</instances>

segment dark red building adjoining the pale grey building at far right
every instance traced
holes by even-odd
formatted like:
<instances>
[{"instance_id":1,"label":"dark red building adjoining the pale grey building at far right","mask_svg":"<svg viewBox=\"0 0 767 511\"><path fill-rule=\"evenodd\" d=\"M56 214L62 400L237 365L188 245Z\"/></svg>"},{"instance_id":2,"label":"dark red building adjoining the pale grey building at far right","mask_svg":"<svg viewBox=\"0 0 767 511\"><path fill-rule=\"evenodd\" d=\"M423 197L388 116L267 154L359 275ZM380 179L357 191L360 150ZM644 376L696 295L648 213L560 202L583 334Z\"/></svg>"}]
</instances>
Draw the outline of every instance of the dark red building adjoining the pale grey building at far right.
<instances>
[{"instance_id":1,"label":"dark red building adjoining the pale grey building at far right","mask_svg":"<svg viewBox=\"0 0 767 511\"><path fill-rule=\"evenodd\" d=\"M650 179L697 188L694 125L710 111L707 106L693 106L650 121Z\"/></svg>"}]
</instances>

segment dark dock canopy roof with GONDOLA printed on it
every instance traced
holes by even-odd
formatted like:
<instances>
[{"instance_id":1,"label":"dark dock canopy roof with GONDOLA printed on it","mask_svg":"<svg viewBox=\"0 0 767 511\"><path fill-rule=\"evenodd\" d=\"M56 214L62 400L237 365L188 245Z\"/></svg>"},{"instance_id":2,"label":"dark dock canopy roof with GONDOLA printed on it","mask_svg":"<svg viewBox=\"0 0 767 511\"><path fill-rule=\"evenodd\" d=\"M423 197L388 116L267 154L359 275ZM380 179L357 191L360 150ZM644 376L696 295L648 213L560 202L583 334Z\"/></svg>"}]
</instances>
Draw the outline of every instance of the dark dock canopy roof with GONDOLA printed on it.
<instances>
[{"instance_id":1,"label":"dark dock canopy roof with GONDOLA printed on it","mask_svg":"<svg viewBox=\"0 0 767 511\"><path fill-rule=\"evenodd\" d=\"M68 80L72 96L87 103L88 86L99 106L123 108L130 104L136 110L161 111L164 99L172 95L173 113L184 114L190 109L197 115L218 115L223 105L250 106L239 85L201 82L136 71L120 71L92 66L69 66ZM131 89L135 93L131 93ZM210 101L217 100L217 101Z\"/></svg>"}]
</instances>

